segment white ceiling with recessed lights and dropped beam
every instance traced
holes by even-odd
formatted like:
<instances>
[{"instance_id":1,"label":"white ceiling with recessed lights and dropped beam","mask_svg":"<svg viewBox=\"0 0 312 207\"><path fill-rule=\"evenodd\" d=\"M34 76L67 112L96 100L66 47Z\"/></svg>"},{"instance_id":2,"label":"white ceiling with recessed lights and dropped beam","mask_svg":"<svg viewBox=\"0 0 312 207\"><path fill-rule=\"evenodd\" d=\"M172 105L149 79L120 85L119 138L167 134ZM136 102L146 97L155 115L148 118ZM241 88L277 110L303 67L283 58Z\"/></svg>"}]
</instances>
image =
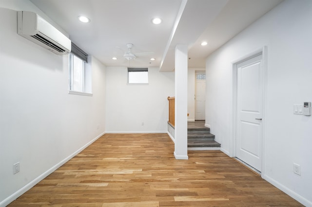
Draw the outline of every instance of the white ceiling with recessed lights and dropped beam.
<instances>
[{"instance_id":1,"label":"white ceiling with recessed lights and dropped beam","mask_svg":"<svg viewBox=\"0 0 312 207\"><path fill-rule=\"evenodd\" d=\"M206 57L282 0L31 0L106 66L174 69L174 49L187 44L189 67L204 68ZM81 23L78 16L90 23ZM163 21L151 23L153 17ZM207 41L203 47L201 41ZM137 59L122 55L133 43ZM117 56L117 60L112 60ZM151 61L150 58L156 58Z\"/></svg>"}]
</instances>

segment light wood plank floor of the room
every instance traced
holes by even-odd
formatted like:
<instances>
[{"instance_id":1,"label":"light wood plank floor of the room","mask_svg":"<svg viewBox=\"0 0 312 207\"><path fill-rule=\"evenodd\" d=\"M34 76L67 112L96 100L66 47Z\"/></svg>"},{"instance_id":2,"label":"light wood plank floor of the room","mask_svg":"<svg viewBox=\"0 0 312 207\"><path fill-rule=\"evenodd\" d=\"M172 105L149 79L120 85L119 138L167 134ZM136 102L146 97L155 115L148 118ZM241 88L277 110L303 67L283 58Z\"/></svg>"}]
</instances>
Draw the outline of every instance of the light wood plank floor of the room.
<instances>
[{"instance_id":1,"label":"light wood plank floor of the room","mask_svg":"<svg viewBox=\"0 0 312 207\"><path fill-rule=\"evenodd\" d=\"M106 134L9 207L302 206L220 151L173 153L167 134Z\"/></svg>"}]
</instances>

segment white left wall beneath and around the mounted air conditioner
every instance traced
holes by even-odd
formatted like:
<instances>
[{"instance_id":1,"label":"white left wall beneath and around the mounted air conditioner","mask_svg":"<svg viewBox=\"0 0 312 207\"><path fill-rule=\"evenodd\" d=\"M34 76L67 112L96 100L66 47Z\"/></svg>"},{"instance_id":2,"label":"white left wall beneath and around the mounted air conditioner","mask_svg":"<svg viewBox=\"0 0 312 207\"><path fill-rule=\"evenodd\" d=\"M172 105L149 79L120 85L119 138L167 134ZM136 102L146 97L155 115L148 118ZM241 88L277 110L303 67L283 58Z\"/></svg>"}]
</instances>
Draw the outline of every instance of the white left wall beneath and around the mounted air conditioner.
<instances>
[{"instance_id":1,"label":"white left wall beneath and around the mounted air conditioner","mask_svg":"<svg viewBox=\"0 0 312 207\"><path fill-rule=\"evenodd\" d=\"M8 5L38 11L26 0ZM105 132L105 67L91 58L92 97L68 94L68 55L18 35L14 10L0 8L0 206Z\"/></svg>"}]
</instances>

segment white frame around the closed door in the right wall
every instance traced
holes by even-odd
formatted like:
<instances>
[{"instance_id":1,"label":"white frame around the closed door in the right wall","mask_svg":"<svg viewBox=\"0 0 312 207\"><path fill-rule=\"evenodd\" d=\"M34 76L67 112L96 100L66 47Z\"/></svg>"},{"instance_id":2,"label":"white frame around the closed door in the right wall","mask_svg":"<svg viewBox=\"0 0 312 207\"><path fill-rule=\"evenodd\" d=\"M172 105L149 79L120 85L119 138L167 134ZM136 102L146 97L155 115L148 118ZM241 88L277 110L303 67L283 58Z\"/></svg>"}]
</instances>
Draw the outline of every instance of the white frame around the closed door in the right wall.
<instances>
[{"instance_id":1,"label":"white frame around the closed door in the right wall","mask_svg":"<svg viewBox=\"0 0 312 207\"><path fill-rule=\"evenodd\" d=\"M262 90L263 90L263 97L262 97L262 112L263 112L263 116L262 116L262 149L261 149L261 177L264 178L264 174L265 174L265 138L266 138L266 134L265 134L265 115L266 115L266 94L267 94L267 46L264 46L254 52L250 52L247 55L244 55L234 61L232 61L232 83L233 83L233 90L232 90L232 113L231 113L231 120L232 120L232 124L230 126L230 130L231 130L231 138L230 138L230 156L231 157L235 157L236 156L236 126L237 126L237 82L238 82L238 77L237 77L237 65L239 63L242 63L250 58L253 58L255 56L258 56L262 54L262 65L263 65L263 72L262 72Z\"/></svg>"}]
</instances>

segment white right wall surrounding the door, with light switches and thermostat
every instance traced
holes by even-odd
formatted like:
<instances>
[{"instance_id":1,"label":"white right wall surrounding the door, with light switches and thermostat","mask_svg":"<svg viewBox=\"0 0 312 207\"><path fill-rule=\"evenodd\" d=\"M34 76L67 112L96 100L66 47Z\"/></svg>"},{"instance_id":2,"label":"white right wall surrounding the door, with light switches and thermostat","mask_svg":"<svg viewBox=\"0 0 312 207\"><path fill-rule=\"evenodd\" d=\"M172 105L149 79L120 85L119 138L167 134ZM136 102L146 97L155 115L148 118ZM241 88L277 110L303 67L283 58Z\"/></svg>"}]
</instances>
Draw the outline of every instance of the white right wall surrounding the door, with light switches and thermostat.
<instances>
[{"instance_id":1,"label":"white right wall surrounding the door, with light switches and thermostat","mask_svg":"<svg viewBox=\"0 0 312 207\"><path fill-rule=\"evenodd\" d=\"M306 206L312 206L312 117L294 115L292 107L312 102L311 19L311 0L285 0L206 61L206 122L222 150L234 155L232 63L267 46L263 177Z\"/></svg>"}]
</instances>

